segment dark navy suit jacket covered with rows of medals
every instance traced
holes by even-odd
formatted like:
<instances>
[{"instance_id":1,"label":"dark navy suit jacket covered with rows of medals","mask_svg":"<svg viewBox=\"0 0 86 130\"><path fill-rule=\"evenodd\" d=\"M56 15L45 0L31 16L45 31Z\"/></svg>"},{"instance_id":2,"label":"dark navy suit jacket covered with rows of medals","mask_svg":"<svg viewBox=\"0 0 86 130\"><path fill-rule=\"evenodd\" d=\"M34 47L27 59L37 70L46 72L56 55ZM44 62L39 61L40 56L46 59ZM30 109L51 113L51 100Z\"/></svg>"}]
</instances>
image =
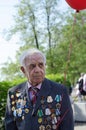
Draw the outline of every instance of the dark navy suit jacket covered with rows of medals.
<instances>
[{"instance_id":1,"label":"dark navy suit jacket covered with rows of medals","mask_svg":"<svg viewBox=\"0 0 86 130\"><path fill-rule=\"evenodd\" d=\"M8 91L6 130L74 130L69 96L61 84L44 79L35 108L32 107L27 82Z\"/></svg>"}]
</instances>

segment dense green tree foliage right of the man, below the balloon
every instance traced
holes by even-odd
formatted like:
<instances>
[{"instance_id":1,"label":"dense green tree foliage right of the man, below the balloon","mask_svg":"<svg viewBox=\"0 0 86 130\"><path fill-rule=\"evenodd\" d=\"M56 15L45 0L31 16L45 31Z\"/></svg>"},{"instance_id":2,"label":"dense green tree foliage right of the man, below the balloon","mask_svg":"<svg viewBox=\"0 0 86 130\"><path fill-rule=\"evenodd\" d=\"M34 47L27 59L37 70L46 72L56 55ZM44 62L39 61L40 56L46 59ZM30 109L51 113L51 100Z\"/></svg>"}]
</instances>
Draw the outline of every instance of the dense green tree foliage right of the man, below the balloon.
<instances>
[{"instance_id":1,"label":"dense green tree foliage right of the man, below the balloon","mask_svg":"<svg viewBox=\"0 0 86 130\"><path fill-rule=\"evenodd\" d=\"M76 19L75 16L76 15ZM70 14L66 17L67 23L61 28L61 41L52 48L52 57L47 51L48 73L66 73L72 84L81 72L86 73L86 12ZM75 21L74 21L75 20ZM74 22L74 23L73 23ZM53 67L50 66L50 60Z\"/></svg>"}]
</instances>

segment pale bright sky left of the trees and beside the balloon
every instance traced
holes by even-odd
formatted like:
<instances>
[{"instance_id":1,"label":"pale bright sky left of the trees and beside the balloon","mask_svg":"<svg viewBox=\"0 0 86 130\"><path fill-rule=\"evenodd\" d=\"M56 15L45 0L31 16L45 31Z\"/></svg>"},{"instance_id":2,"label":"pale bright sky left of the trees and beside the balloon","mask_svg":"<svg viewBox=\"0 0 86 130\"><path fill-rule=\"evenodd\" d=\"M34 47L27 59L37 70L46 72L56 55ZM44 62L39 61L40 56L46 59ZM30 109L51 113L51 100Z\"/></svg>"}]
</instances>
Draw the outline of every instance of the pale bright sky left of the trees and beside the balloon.
<instances>
[{"instance_id":1,"label":"pale bright sky left of the trees and beside the balloon","mask_svg":"<svg viewBox=\"0 0 86 130\"><path fill-rule=\"evenodd\" d=\"M65 9L68 5L65 0L61 1L61 8ZM16 50L19 45L17 36L12 37L7 41L2 34L3 30L7 30L14 24L13 15L15 14L15 7L19 0L0 0L0 68L3 63L8 61L8 58L15 60Z\"/></svg>"}]
</instances>

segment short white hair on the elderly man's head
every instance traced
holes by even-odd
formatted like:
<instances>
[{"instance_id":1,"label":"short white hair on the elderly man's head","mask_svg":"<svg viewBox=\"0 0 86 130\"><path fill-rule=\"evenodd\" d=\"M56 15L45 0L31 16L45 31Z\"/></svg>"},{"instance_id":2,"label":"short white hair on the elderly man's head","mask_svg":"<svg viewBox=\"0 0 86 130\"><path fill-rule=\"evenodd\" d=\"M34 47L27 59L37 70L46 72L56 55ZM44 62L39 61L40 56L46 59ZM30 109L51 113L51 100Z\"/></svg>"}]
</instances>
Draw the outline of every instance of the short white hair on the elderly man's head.
<instances>
[{"instance_id":1,"label":"short white hair on the elderly man's head","mask_svg":"<svg viewBox=\"0 0 86 130\"><path fill-rule=\"evenodd\" d=\"M46 64L45 55L40 50L33 48L33 49L28 49L22 53L22 55L20 56L20 65L25 66L25 59L33 55L34 53L40 54L43 57L44 63Z\"/></svg>"}]
</instances>

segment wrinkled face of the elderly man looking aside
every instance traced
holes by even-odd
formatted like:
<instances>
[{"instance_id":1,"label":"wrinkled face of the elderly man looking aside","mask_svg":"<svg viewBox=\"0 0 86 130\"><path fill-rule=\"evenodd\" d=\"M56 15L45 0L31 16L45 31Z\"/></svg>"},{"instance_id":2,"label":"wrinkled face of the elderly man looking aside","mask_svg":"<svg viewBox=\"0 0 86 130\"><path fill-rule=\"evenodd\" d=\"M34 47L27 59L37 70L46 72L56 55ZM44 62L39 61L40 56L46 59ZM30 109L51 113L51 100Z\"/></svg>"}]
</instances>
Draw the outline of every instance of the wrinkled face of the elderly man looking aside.
<instances>
[{"instance_id":1,"label":"wrinkled face of the elderly man looking aside","mask_svg":"<svg viewBox=\"0 0 86 130\"><path fill-rule=\"evenodd\" d=\"M43 57L38 53L27 57L25 60L25 67L23 67L23 72L33 86L41 83L45 77L45 64Z\"/></svg>"}]
</instances>

